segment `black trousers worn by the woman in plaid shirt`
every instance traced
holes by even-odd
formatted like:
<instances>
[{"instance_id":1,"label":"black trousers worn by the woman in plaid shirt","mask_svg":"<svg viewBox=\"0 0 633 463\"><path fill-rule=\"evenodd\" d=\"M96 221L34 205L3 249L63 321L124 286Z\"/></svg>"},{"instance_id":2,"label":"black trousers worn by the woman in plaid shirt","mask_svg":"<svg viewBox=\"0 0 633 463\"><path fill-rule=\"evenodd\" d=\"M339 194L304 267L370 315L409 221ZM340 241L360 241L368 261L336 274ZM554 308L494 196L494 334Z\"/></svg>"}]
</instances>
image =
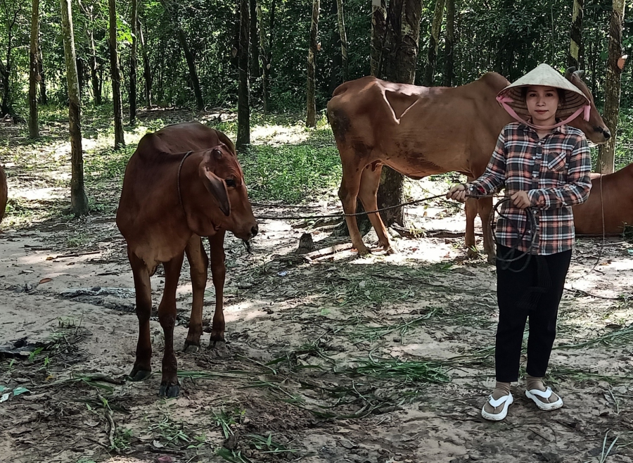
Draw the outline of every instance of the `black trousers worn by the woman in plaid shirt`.
<instances>
[{"instance_id":1,"label":"black trousers worn by the woman in plaid shirt","mask_svg":"<svg viewBox=\"0 0 633 463\"><path fill-rule=\"evenodd\" d=\"M511 255L511 250L497 246L497 255ZM526 260L529 262L525 269L517 272ZM509 268L508 263L497 260L499 325L494 350L497 381L518 381L521 343L528 317L528 374L545 376L556 337L558 303L563 296L570 260L571 250L551 255L527 255L511 262Z\"/></svg>"}]
</instances>

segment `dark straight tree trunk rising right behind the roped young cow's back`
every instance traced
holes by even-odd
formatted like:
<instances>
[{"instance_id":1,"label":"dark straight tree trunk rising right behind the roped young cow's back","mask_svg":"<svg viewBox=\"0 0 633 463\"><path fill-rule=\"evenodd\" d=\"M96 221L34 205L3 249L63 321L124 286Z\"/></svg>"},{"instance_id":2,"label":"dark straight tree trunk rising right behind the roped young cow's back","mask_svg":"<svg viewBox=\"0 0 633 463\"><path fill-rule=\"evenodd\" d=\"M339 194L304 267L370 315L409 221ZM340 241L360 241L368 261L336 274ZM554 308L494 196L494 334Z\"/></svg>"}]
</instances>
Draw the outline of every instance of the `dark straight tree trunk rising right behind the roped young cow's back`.
<instances>
[{"instance_id":1,"label":"dark straight tree trunk rising right behind the roped young cow's back","mask_svg":"<svg viewBox=\"0 0 633 463\"><path fill-rule=\"evenodd\" d=\"M250 32L249 1L240 0L240 43L238 50L238 133L236 150L245 151L250 145L250 91L248 88L248 35Z\"/></svg>"}]
</instances>

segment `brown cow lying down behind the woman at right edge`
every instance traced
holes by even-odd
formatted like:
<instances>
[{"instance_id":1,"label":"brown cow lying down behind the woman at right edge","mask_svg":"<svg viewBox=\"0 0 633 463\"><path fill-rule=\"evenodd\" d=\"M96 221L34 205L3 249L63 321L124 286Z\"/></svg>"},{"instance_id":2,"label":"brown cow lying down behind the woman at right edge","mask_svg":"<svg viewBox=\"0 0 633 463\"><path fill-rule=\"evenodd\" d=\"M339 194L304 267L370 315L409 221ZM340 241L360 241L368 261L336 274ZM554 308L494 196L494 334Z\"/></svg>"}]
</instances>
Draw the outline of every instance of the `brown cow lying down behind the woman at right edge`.
<instances>
[{"instance_id":1,"label":"brown cow lying down behind the woman at right edge","mask_svg":"<svg viewBox=\"0 0 633 463\"><path fill-rule=\"evenodd\" d=\"M589 199L585 203L575 205L573 211L577 234L621 234L625 224L632 226L633 164L613 174L592 174L592 192Z\"/></svg>"}]
</instances>

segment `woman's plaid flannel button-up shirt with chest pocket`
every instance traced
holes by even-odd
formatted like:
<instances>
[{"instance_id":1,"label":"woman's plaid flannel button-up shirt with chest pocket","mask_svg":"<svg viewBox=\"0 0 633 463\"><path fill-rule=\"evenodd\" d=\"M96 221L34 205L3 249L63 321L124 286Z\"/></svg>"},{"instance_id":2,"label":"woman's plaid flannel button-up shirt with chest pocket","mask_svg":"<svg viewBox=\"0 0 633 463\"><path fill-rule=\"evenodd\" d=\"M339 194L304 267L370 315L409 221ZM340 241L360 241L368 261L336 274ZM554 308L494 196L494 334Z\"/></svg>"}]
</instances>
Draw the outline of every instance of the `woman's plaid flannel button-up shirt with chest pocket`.
<instances>
[{"instance_id":1,"label":"woman's plaid flannel button-up shirt with chest pocket","mask_svg":"<svg viewBox=\"0 0 633 463\"><path fill-rule=\"evenodd\" d=\"M584 203L589 197L592 162L584 134L574 127L562 125L539 139L535 129L511 122L504 127L497 147L484 174L466 184L471 194L491 194L502 186L506 194L528 191L537 221L537 237L531 252L554 254L573 248L574 216L571 206ZM530 250L530 234L519 243L525 231L523 210L511 202L501 205L497 241L503 246ZM512 221L517 229L509 222Z\"/></svg>"}]
</instances>

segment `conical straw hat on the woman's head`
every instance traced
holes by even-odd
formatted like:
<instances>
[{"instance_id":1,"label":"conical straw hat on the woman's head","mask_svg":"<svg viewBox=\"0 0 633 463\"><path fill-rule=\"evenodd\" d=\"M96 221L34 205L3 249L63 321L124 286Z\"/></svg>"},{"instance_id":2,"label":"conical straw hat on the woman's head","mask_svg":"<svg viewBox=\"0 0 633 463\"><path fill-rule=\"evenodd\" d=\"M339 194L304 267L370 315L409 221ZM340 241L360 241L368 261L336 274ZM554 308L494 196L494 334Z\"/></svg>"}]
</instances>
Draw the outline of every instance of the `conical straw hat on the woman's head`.
<instances>
[{"instance_id":1,"label":"conical straw hat on the woman's head","mask_svg":"<svg viewBox=\"0 0 633 463\"><path fill-rule=\"evenodd\" d=\"M584 96L578 87L547 64L539 64L535 69L528 72L528 74L499 91L497 100L499 103L506 103L521 118L527 120L530 118L530 113L528 113L528 106L525 104L525 97L521 96L521 88L531 87L532 85L556 87L557 89L563 89L565 91L565 101L561 101L562 105L559 106L556 111L558 118L568 118L583 106L589 105L587 96Z\"/></svg>"}]
</instances>

